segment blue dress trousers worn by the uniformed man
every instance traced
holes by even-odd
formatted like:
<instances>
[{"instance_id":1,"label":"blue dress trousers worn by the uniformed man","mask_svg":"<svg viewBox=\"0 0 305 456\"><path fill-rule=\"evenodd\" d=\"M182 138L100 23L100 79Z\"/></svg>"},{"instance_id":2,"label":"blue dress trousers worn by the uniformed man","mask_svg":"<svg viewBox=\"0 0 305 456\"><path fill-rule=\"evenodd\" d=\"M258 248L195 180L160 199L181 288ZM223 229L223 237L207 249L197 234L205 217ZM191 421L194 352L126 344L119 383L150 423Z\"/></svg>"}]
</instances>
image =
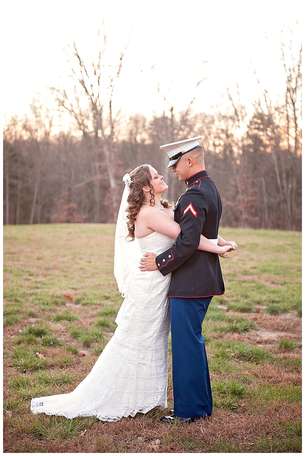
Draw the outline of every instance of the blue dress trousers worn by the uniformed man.
<instances>
[{"instance_id":1,"label":"blue dress trousers worn by the uniformed man","mask_svg":"<svg viewBox=\"0 0 305 456\"><path fill-rule=\"evenodd\" d=\"M198 418L211 415L212 392L202 321L212 296L170 298L174 413Z\"/></svg>"}]
</instances>

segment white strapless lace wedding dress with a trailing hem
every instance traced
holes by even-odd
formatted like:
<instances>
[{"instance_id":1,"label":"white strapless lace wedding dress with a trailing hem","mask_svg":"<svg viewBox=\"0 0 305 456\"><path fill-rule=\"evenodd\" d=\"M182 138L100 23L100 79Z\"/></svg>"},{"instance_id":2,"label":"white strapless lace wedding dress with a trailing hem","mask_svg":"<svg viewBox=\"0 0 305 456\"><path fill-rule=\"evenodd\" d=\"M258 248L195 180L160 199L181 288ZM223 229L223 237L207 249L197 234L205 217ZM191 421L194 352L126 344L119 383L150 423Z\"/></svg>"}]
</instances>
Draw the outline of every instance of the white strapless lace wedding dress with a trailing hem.
<instances>
[{"instance_id":1,"label":"white strapless lace wedding dress with a trailing hem","mask_svg":"<svg viewBox=\"0 0 305 456\"><path fill-rule=\"evenodd\" d=\"M174 243L157 232L138 241L142 253L156 255ZM119 326L91 372L71 393L32 399L32 412L116 421L156 406L165 408L170 280L170 274L137 268L119 311Z\"/></svg>"}]
</instances>

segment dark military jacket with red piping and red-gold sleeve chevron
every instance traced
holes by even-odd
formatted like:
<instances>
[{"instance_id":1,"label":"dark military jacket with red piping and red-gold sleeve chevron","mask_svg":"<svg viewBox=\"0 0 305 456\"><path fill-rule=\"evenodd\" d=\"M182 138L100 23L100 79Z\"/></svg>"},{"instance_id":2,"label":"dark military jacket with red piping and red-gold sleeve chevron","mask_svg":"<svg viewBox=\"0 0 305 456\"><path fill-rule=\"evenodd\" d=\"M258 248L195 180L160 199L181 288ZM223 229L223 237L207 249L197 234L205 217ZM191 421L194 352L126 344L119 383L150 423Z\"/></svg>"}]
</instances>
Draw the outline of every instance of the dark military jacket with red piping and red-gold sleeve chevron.
<instances>
[{"instance_id":1,"label":"dark military jacket with red piping and red-gold sleeve chevron","mask_svg":"<svg viewBox=\"0 0 305 456\"><path fill-rule=\"evenodd\" d=\"M171 249L158 255L155 262L162 275L171 272L169 297L223 295L218 255L197 250L201 234L217 238L222 214L220 194L206 170L189 177L186 185L174 209L181 232Z\"/></svg>"}]
</instances>

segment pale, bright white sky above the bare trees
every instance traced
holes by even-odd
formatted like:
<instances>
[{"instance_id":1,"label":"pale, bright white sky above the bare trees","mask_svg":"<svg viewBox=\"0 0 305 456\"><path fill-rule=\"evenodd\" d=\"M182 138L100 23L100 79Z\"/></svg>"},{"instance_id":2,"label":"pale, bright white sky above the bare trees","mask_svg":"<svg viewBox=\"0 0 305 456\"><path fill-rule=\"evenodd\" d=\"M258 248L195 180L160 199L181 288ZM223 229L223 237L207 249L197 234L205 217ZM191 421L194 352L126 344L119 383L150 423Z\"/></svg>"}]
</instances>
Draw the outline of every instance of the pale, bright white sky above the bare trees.
<instances>
[{"instance_id":1,"label":"pale, bright white sky above the bare trees","mask_svg":"<svg viewBox=\"0 0 305 456\"><path fill-rule=\"evenodd\" d=\"M16 0L5 2L2 11L2 104L7 115L27 113L37 92L52 103L48 86L71 89L64 48L73 37L89 61L103 21L109 40L106 75L129 40L114 88L114 108L127 115L150 117L169 106L177 112L193 96L194 111L209 111L225 103L227 87L236 96L236 83L251 109L261 93L253 68L276 101L285 87L281 28L287 40L292 27L295 52L301 42L299 0Z\"/></svg>"}]
</instances>

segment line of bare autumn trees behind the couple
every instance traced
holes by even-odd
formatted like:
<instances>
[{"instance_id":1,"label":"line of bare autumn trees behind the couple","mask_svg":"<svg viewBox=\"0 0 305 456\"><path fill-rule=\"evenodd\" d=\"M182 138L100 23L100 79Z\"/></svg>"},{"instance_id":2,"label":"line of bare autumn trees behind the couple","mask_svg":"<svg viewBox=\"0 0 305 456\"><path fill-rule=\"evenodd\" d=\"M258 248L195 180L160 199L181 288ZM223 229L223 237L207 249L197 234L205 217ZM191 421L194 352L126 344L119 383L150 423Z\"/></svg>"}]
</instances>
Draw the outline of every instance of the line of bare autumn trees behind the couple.
<instances>
[{"instance_id":1,"label":"line of bare autumn trees behind the couple","mask_svg":"<svg viewBox=\"0 0 305 456\"><path fill-rule=\"evenodd\" d=\"M227 93L226 109L212 114L194 113L193 99L183 111L169 106L148 119L114 113L124 49L102 90L104 48L88 65L73 43L74 91L50 88L58 112L73 120L70 130L54 133L54 113L39 98L28 115L7 120L5 224L114 223L122 176L142 163L164 174L164 196L176 201L185 184L166 168L168 156L159 146L202 135L206 169L222 197L221 226L301 229L301 50L287 63L281 47L281 104L264 89L249 117L239 98Z\"/></svg>"}]
</instances>

